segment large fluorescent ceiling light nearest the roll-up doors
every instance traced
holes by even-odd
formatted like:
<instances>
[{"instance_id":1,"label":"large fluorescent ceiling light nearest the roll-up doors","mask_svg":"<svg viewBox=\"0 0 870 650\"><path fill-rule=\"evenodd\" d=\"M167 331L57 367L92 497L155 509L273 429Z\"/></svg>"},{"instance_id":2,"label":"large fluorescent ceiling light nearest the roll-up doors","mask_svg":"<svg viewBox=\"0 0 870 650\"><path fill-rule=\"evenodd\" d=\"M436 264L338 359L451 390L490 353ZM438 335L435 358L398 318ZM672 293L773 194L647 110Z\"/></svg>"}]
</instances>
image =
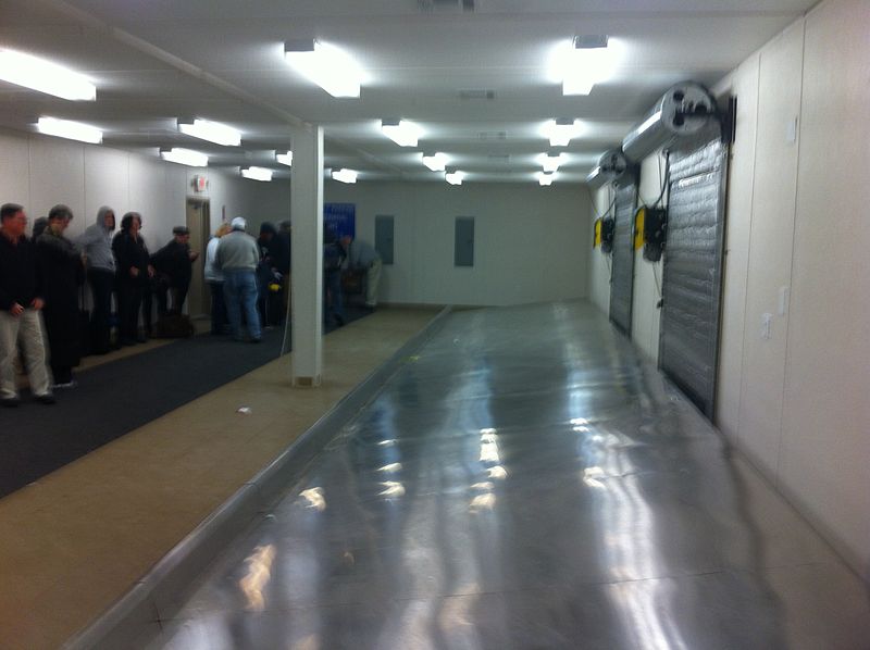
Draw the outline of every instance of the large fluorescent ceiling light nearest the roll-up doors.
<instances>
[{"instance_id":1,"label":"large fluorescent ceiling light nearest the roll-up doors","mask_svg":"<svg viewBox=\"0 0 870 650\"><path fill-rule=\"evenodd\" d=\"M613 75L618 46L606 35L598 34L560 42L550 58L549 76L561 82L562 95L588 95L593 86Z\"/></svg>"}]
</instances>

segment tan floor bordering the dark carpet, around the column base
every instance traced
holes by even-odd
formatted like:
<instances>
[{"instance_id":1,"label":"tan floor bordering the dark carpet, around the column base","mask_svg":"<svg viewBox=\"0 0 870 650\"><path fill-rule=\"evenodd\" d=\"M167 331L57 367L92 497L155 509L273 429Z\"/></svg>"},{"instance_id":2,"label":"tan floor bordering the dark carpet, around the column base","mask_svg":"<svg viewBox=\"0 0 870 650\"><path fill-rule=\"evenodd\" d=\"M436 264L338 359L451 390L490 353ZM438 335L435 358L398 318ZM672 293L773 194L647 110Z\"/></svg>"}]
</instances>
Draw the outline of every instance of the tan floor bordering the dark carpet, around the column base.
<instances>
[{"instance_id":1,"label":"tan floor bordering the dark carpet, around the column base","mask_svg":"<svg viewBox=\"0 0 870 650\"><path fill-rule=\"evenodd\" d=\"M437 313L378 309L324 337L320 388L287 354L0 499L0 650L60 648Z\"/></svg>"}]
</instances>

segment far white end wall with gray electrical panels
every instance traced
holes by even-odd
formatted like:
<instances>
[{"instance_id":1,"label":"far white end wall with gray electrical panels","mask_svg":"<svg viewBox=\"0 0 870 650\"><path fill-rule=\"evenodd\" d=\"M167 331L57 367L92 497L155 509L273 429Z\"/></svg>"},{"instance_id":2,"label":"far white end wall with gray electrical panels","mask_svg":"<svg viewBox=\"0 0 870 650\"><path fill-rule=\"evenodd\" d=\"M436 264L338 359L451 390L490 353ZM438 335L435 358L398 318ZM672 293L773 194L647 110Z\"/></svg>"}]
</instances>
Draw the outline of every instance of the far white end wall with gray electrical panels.
<instances>
[{"instance_id":1,"label":"far white end wall with gray electrical panels","mask_svg":"<svg viewBox=\"0 0 870 650\"><path fill-rule=\"evenodd\" d=\"M518 304L586 296L588 198L580 186L327 182L325 201L355 203L357 236L374 243L395 216L385 302ZM474 266L453 266L453 220L474 217Z\"/></svg>"}]
</instances>

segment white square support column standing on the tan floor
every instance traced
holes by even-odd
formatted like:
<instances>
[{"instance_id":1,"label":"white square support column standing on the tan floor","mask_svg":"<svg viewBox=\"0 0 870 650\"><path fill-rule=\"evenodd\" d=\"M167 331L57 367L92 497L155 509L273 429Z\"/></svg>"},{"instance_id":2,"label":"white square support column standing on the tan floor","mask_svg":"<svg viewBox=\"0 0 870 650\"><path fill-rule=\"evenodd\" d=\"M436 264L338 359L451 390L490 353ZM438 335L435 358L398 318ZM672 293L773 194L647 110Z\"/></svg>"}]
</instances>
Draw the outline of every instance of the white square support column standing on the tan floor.
<instances>
[{"instance_id":1,"label":"white square support column standing on the tan floor","mask_svg":"<svg viewBox=\"0 0 870 650\"><path fill-rule=\"evenodd\" d=\"M323 127L293 128L293 384L320 386L323 371Z\"/></svg>"}]
</instances>

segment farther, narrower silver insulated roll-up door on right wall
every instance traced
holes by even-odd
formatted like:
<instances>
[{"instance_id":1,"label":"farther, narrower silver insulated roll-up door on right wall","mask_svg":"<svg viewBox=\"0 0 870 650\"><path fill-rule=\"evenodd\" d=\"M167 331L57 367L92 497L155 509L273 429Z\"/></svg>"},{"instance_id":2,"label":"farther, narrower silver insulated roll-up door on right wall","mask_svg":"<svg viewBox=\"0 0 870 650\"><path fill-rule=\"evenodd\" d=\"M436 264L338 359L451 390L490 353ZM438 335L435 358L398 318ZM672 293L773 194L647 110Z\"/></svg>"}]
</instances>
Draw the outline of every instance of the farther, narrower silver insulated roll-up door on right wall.
<instances>
[{"instance_id":1,"label":"farther, narrower silver insulated roll-up door on right wall","mask_svg":"<svg viewBox=\"0 0 870 650\"><path fill-rule=\"evenodd\" d=\"M627 175L627 174L626 174ZM634 289L634 211L637 184L625 179L617 187L613 205L613 253L610 274L610 320L626 335L632 333L632 291Z\"/></svg>"}]
</instances>

